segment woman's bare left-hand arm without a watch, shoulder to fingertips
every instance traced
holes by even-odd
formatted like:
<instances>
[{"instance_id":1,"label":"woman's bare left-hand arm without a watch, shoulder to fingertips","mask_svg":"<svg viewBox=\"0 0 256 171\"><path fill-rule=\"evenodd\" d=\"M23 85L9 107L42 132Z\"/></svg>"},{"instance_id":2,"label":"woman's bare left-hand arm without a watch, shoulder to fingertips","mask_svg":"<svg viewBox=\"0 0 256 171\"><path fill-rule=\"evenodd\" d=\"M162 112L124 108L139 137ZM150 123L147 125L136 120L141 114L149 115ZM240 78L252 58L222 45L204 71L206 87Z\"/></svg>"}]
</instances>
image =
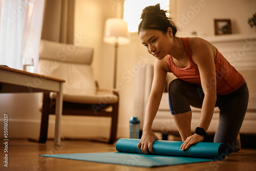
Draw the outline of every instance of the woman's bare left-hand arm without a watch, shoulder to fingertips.
<instances>
[{"instance_id":1,"label":"woman's bare left-hand arm without a watch, shoulder to fingertips","mask_svg":"<svg viewBox=\"0 0 256 171\"><path fill-rule=\"evenodd\" d=\"M155 119L156 113L159 108L159 104L162 98L165 79L166 79L166 58L162 60L156 60L154 66L154 78L152 82L152 88L150 97L146 105L145 118L143 124L143 134L137 148L144 154L153 153L152 145L154 140L159 139L152 131L152 123Z\"/></svg>"}]
</instances>

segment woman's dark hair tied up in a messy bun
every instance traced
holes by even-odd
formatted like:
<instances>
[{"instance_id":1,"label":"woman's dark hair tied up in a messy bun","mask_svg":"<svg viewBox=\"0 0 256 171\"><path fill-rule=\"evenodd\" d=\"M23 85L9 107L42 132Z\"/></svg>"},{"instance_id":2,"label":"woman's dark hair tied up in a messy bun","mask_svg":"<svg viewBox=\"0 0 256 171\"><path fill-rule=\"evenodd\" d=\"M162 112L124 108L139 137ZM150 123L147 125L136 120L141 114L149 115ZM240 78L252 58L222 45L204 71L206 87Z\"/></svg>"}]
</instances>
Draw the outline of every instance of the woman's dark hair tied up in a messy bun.
<instances>
[{"instance_id":1,"label":"woman's dark hair tied up in a messy bun","mask_svg":"<svg viewBox=\"0 0 256 171\"><path fill-rule=\"evenodd\" d=\"M160 4L155 6L148 6L142 10L141 17L142 21L138 27L138 33L142 30L161 30L164 34L167 33L170 27L173 30L173 36L177 32L177 27L173 20L166 16L167 11L160 9Z\"/></svg>"}]
</instances>

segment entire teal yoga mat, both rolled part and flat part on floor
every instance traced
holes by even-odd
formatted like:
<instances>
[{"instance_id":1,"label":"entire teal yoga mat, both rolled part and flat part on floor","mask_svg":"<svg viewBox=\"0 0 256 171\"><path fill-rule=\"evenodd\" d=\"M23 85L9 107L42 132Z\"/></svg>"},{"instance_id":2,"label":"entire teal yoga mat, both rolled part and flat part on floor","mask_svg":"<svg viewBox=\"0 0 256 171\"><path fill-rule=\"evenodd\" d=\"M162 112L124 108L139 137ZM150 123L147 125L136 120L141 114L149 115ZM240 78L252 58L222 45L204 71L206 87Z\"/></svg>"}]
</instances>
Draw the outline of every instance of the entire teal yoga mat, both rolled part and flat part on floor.
<instances>
[{"instance_id":1,"label":"entire teal yoga mat, both rolled part and flat part on floor","mask_svg":"<svg viewBox=\"0 0 256 171\"><path fill-rule=\"evenodd\" d=\"M112 153L77 153L40 156L141 167L209 162L223 160L226 156L226 146L223 143L199 142L190 146L186 151L181 151L180 146L182 142L162 140L154 141L154 155L144 155L137 149L139 141L139 139L119 139L116 143L118 152Z\"/></svg>"}]
</instances>

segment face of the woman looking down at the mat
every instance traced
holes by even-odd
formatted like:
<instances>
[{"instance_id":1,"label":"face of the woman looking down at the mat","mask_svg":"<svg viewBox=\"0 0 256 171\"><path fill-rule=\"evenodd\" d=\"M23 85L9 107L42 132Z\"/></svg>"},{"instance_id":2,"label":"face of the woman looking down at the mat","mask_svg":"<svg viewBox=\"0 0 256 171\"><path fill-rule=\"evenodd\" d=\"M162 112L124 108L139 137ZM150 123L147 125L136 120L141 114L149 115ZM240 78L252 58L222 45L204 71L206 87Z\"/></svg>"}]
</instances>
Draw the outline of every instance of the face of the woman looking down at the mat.
<instances>
[{"instance_id":1,"label":"face of the woman looking down at the mat","mask_svg":"<svg viewBox=\"0 0 256 171\"><path fill-rule=\"evenodd\" d=\"M172 29L170 31L169 29L166 34L160 30L142 30L139 33L142 45L146 47L147 52L159 60L170 54L172 49L173 35Z\"/></svg>"}]
</instances>

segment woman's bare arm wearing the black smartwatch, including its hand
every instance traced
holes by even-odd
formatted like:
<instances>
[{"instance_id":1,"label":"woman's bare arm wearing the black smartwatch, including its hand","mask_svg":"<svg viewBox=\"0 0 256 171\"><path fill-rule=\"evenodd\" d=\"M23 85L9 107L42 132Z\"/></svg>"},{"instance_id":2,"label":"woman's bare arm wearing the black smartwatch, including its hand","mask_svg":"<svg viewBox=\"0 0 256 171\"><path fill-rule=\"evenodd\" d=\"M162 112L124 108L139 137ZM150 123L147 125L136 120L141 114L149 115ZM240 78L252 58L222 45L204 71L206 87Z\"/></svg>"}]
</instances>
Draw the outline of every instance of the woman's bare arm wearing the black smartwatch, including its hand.
<instances>
[{"instance_id":1,"label":"woman's bare arm wearing the black smartwatch, including its hand","mask_svg":"<svg viewBox=\"0 0 256 171\"><path fill-rule=\"evenodd\" d=\"M208 130L216 103L216 69L214 57L216 49L206 40L195 38L191 40L191 52L193 60L197 63L202 89L204 92L204 100L202 104L201 116L198 127L202 127L205 132ZM191 144L195 144L203 140L202 135L194 134L188 137L181 145L182 150L187 149Z\"/></svg>"}]
</instances>

